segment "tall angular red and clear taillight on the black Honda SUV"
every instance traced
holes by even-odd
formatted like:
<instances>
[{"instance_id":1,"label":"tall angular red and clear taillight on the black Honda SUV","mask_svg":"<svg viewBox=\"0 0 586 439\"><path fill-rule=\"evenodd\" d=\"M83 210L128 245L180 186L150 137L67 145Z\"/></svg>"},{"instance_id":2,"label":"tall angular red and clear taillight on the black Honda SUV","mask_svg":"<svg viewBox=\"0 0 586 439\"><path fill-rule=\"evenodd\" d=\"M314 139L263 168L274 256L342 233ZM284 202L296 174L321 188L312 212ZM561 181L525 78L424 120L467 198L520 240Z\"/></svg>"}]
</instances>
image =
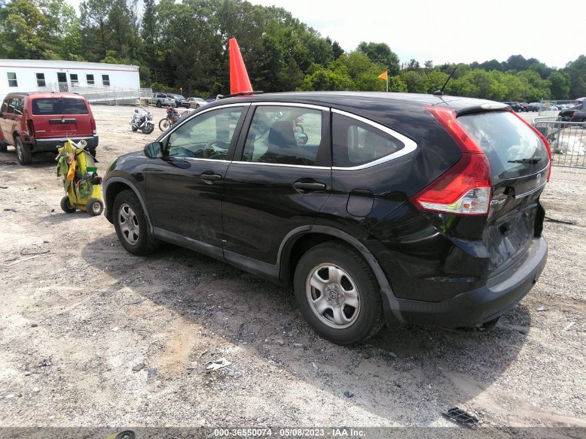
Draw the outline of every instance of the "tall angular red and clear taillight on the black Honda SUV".
<instances>
[{"instance_id":1,"label":"tall angular red and clear taillight on the black Honda SUV","mask_svg":"<svg viewBox=\"0 0 586 439\"><path fill-rule=\"evenodd\" d=\"M420 209L456 215L485 215L490 207L490 164L482 148L460 126L456 112L426 105L426 110L456 141L460 160L433 180L411 202Z\"/></svg>"}]
</instances>

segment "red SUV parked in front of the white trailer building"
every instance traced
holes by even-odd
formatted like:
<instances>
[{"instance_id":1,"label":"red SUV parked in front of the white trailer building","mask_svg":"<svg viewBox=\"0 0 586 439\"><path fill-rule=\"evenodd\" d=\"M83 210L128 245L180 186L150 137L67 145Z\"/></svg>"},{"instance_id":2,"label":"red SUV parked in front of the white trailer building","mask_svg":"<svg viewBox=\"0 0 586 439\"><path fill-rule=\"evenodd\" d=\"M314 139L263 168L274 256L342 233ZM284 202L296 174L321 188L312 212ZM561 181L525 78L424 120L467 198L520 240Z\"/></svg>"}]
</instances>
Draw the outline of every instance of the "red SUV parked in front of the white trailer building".
<instances>
[{"instance_id":1,"label":"red SUV parked in front of the white trailer building","mask_svg":"<svg viewBox=\"0 0 586 439\"><path fill-rule=\"evenodd\" d=\"M20 164L33 153L57 153L64 139L87 141L96 156L96 119L86 99L72 93L10 93L0 107L0 152L13 145Z\"/></svg>"}]
</instances>

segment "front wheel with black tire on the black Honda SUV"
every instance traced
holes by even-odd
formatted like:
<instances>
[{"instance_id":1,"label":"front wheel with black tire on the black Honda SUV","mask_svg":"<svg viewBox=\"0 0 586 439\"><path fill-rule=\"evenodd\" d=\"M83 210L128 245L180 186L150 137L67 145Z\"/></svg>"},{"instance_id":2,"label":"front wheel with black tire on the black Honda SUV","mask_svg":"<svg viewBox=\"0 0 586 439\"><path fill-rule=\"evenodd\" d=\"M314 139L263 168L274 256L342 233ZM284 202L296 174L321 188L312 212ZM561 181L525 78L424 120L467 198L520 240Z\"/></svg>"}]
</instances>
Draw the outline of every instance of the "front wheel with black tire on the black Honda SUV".
<instances>
[{"instance_id":1,"label":"front wheel with black tire on the black Honda SUV","mask_svg":"<svg viewBox=\"0 0 586 439\"><path fill-rule=\"evenodd\" d=\"M130 209L131 213L127 208ZM132 221L124 218L121 211L124 212L124 215L128 215ZM118 240L127 252L132 253L132 255L148 255L156 250L158 242L153 236L150 236L150 230L148 230L148 223L140 201L130 189L121 191L114 198L112 217ZM132 236L128 230L123 230L123 224L126 221L129 221L128 224L132 225Z\"/></svg>"}]
</instances>

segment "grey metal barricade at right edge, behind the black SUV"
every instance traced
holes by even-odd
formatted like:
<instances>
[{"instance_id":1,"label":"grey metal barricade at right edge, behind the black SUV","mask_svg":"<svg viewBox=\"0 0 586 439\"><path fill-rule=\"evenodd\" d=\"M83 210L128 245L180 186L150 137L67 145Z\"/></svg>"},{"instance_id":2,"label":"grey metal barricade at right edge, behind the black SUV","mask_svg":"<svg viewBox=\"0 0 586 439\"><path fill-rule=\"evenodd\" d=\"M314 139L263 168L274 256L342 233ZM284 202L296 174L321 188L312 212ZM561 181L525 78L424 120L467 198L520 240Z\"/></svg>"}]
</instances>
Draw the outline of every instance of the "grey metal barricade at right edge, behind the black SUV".
<instances>
[{"instance_id":1,"label":"grey metal barricade at right edge, behind the black SUV","mask_svg":"<svg viewBox=\"0 0 586 439\"><path fill-rule=\"evenodd\" d=\"M586 122L535 117L533 126L549 141L553 165L586 169Z\"/></svg>"}]
</instances>

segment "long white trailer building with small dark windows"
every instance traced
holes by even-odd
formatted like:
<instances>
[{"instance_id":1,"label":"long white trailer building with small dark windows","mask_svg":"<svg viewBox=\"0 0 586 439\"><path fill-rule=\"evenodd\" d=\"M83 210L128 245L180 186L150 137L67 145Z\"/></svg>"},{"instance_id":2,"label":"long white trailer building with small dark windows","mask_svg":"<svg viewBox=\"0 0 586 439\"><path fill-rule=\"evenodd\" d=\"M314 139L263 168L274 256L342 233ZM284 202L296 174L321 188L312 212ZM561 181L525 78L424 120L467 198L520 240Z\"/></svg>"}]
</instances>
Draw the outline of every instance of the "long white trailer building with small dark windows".
<instances>
[{"instance_id":1,"label":"long white trailer building with small dark windows","mask_svg":"<svg viewBox=\"0 0 586 439\"><path fill-rule=\"evenodd\" d=\"M0 60L0 100L10 92L76 92L90 102L141 97L139 67L101 62Z\"/></svg>"}]
</instances>

